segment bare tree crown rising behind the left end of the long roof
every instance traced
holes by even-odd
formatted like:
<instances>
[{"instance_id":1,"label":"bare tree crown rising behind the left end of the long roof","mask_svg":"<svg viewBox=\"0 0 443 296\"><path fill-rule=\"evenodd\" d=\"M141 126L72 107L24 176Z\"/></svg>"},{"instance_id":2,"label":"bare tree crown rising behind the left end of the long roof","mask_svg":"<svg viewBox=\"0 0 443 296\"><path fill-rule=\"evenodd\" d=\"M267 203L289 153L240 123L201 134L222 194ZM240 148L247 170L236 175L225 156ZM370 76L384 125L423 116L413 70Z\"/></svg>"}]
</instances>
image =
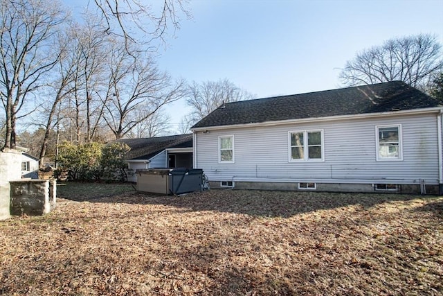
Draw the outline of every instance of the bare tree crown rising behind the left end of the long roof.
<instances>
[{"instance_id":1,"label":"bare tree crown rising behind the left end of the long roof","mask_svg":"<svg viewBox=\"0 0 443 296\"><path fill-rule=\"evenodd\" d=\"M203 119L222 103L250 100L253 97L253 94L240 89L228 79L193 82L186 98L186 103L192 107L192 112L187 117L188 125Z\"/></svg>"}]
</instances>

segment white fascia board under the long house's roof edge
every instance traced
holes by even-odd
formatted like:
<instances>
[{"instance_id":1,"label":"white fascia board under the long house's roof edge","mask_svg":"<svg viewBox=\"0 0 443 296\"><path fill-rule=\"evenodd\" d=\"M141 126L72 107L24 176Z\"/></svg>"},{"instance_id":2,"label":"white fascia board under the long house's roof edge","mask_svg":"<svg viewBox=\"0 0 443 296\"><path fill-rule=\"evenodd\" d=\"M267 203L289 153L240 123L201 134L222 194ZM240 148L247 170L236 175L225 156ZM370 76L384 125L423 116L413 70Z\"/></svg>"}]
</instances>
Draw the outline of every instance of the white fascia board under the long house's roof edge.
<instances>
[{"instance_id":1,"label":"white fascia board under the long house's roof edge","mask_svg":"<svg viewBox=\"0 0 443 296\"><path fill-rule=\"evenodd\" d=\"M310 117L307 119L287 119L282 121L265 121L260 123L242 123L233 125L216 125L207 126L202 128L191 128L192 132L199 132L205 130L226 130L231 128L249 128L256 126L271 126L271 125L284 125L291 123L311 123L311 122L323 122L323 121L340 121L349 119L372 119L386 116L401 116L401 115L414 115L414 114L433 114L443 112L443 107L431 107L413 110L401 110L401 111L390 111L390 112L379 112L379 113L365 113L365 114L352 114L352 115L337 115L337 116L326 116L326 117Z\"/></svg>"}]
</instances>

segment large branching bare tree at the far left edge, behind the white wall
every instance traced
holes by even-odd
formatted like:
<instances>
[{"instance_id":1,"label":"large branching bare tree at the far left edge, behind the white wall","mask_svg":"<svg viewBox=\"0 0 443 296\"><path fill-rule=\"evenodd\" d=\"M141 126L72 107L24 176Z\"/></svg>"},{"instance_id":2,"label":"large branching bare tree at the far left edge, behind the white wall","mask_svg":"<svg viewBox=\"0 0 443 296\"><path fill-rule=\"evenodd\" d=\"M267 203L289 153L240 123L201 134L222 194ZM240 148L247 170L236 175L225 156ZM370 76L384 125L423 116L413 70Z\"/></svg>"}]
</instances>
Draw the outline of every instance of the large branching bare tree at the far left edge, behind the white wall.
<instances>
[{"instance_id":1,"label":"large branching bare tree at the far left edge, behind the white wall","mask_svg":"<svg viewBox=\"0 0 443 296\"><path fill-rule=\"evenodd\" d=\"M43 85L59 56L51 39L64 21L60 3L3 0L0 3L0 97L6 111L4 148L15 148L17 119L33 111L26 104ZM22 113L20 113L22 112Z\"/></svg>"}]
</instances>

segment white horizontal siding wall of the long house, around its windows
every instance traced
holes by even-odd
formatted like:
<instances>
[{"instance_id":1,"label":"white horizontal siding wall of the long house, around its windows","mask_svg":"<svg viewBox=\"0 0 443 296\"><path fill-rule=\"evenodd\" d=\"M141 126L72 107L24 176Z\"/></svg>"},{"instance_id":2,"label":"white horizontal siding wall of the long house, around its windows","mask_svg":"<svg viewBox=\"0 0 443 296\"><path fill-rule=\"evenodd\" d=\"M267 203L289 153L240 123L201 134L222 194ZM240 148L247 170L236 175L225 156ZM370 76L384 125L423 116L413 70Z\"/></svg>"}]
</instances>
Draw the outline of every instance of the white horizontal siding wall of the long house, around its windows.
<instances>
[{"instance_id":1,"label":"white horizontal siding wall of the long house, around its windows","mask_svg":"<svg viewBox=\"0 0 443 296\"><path fill-rule=\"evenodd\" d=\"M403 160L377 162L376 125L401 124ZM289 162L288 132L323 130L323 162ZM234 135L235 163L218 163L218 137ZM439 184L437 114L201 131L195 165L210 181Z\"/></svg>"}]
</instances>

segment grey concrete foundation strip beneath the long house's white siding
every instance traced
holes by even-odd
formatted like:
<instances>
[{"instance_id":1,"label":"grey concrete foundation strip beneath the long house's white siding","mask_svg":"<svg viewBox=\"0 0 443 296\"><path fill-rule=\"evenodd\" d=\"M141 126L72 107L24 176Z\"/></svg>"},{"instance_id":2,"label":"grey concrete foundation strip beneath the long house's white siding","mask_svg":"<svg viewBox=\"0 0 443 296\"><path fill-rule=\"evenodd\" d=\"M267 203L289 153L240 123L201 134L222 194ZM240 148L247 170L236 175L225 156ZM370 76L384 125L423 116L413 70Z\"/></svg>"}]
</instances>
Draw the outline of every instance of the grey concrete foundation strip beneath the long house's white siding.
<instances>
[{"instance_id":1,"label":"grey concrete foundation strip beneath the long house's white siding","mask_svg":"<svg viewBox=\"0 0 443 296\"><path fill-rule=\"evenodd\" d=\"M378 192L378 193L415 193L421 189L416 184L398 185L397 191L376 191L372 184L350 183L317 183L316 189L298 189L298 183L279 182L234 182L234 187L220 186L220 181L210 181L211 189L251 189L251 190L281 190L281 191L323 191L323 192ZM426 185L427 194L438 194L438 185Z\"/></svg>"}]
</instances>

